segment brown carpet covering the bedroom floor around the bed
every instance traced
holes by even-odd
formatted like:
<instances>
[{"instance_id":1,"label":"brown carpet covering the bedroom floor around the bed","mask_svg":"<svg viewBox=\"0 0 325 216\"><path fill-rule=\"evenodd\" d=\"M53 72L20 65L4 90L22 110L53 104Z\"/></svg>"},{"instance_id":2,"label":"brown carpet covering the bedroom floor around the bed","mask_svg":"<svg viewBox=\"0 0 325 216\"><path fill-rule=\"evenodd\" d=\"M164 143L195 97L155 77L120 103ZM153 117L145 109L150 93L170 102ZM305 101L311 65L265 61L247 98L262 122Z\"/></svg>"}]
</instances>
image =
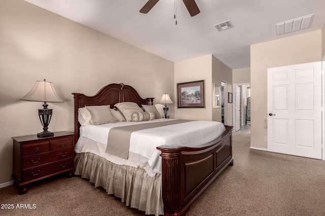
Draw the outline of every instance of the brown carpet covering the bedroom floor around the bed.
<instances>
[{"instance_id":1,"label":"brown carpet covering the bedroom floor around the bed","mask_svg":"<svg viewBox=\"0 0 325 216\"><path fill-rule=\"evenodd\" d=\"M249 126L233 133L234 166L186 215L325 215L325 161L253 150L249 140ZM0 203L14 204L1 215L144 215L78 176L31 184L24 195L13 185L2 188Z\"/></svg>"}]
</instances>

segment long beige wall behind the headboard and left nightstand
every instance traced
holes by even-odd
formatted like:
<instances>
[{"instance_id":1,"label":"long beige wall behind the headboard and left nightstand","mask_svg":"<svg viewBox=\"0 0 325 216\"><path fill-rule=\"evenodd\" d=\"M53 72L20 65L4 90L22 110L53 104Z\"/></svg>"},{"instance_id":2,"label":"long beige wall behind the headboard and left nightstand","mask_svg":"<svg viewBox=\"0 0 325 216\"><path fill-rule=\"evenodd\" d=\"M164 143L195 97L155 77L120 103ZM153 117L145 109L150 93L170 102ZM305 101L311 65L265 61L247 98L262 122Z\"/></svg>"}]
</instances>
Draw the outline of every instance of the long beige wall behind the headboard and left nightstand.
<instances>
[{"instance_id":1,"label":"long beige wall behind the headboard and left nightstand","mask_svg":"<svg viewBox=\"0 0 325 216\"><path fill-rule=\"evenodd\" d=\"M0 184L12 181L11 137L43 131L42 103L19 98L44 78L64 100L48 103L53 132L73 131L73 92L123 82L142 97L174 95L173 62L22 0L0 1Z\"/></svg>"}]
</instances>

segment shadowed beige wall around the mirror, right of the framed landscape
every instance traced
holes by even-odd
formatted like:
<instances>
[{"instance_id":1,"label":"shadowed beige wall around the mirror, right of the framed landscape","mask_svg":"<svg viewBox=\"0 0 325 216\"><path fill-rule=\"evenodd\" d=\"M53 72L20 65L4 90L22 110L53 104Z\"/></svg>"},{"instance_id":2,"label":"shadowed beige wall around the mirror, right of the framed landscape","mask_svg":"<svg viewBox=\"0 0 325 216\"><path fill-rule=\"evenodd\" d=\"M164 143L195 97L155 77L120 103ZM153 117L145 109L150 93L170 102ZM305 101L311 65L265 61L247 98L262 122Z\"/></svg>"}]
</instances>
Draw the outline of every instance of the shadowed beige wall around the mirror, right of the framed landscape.
<instances>
[{"instance_id":1,"label":"shadowed beige wall around the mirror, right of the framed landscape","mask_svg":"<svg viewBox=\"0 0 325 216\"><path fill-rule=\"evenodd\" d=\"M224 91L224 124L233 125L233 103L228 103L228 92L233 92L233 70L212 56L212 82L221 85L221 81L227 83ZM212 120L221 122L221 108L212 109Z\"/></svg>"}]
</instances>

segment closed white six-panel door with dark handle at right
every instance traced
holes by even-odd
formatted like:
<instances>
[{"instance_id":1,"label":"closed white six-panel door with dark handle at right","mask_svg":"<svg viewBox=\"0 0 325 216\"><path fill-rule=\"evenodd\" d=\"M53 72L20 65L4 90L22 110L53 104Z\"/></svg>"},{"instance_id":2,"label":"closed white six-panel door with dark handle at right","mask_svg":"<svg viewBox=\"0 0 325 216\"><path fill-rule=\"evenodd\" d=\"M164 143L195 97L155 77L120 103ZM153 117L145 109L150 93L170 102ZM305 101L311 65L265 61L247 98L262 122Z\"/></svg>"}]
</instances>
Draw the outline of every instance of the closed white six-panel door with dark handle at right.
<instances>
[{"instance_id":1,"label":"closed white six-panel door with dark handle at right","mask_svg":"<svg viewBox=\"0 0 325 216\"><path fill-rule=\"evenodd\" d=\"M321 62L268 69L268 151L321 159Z\"/></svg>"}]
</instances>

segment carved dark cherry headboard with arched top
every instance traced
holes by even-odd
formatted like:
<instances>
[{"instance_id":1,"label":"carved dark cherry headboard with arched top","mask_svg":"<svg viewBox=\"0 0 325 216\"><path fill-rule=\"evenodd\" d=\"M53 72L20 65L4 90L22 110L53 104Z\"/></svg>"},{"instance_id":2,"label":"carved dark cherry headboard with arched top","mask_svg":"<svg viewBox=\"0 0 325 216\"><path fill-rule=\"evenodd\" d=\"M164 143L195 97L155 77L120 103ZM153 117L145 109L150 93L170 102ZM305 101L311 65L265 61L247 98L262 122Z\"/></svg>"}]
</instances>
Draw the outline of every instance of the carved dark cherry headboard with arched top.
<instances>
[{"instance_id":1,"label":"carved dark cherry headboard with arched top","mask_svg":"<svg viewBox=\"0 0 325 216\"><path fill-rule=\"evenodd\" d=\"M85 106L110 105L111 109L114 104L121 102L134 102L140 107L142 104L153 105L154 98L141 98L138 92L130 85L123 83L112 83L103 87L94 96L86 96L81 93L72 93L74 98L74 133L76 134L75 142L79 138L80 123L78 122L78 108Z\"/></svg>"}]
</instances>

